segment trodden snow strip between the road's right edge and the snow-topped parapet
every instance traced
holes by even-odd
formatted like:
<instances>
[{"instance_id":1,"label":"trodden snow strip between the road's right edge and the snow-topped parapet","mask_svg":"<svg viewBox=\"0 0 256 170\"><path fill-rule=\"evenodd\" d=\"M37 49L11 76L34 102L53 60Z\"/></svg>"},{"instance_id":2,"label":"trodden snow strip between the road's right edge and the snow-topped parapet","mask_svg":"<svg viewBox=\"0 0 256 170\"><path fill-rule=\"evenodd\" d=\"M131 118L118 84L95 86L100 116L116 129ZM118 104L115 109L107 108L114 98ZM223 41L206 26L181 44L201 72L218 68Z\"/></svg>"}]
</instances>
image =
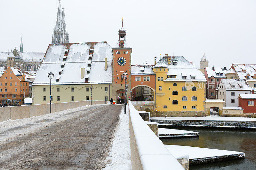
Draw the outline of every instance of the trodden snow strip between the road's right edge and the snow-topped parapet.
<instances>
[{"instance_id":1,"label":"trodden snow strip between the road's right edge and the snow-topped parapet","mask_svg":"<svg viewBox=\"0 0 256 170\"><path fill-rule=\"evenodd\" d=\"M126 114L124 114L124 107L119 115L119 123L115 138L113 139L110 152L106 158L108 164L104 170L132 169L130 135L129 135L129 113L128 105L126 106Z\"/></svg>"}]
</instances>

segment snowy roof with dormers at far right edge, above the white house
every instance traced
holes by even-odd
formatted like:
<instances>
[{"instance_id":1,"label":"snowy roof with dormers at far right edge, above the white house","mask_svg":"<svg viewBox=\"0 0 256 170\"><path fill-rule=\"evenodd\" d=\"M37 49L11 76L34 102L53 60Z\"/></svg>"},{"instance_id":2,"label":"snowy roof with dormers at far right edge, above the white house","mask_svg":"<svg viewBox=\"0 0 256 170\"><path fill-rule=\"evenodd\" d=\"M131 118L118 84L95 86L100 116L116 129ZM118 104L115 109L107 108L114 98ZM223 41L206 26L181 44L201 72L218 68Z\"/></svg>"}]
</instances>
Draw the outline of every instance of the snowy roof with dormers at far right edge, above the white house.
<instances>
[{"instance_id":1,"label":"snowy roof with dormers at far right edge, above the white house","mask_svg":"<svg viewBox=\"0 0 256 170\"><path fill-rule=\"evenodd\" d=\"M238 78L246 79L246 81L256 81L253 78L253 75L256 74L256 64L232 64L232 67L235 69ZM247 78L248 74L250 75L249 78Z\"/></svg>"}]
</instances>

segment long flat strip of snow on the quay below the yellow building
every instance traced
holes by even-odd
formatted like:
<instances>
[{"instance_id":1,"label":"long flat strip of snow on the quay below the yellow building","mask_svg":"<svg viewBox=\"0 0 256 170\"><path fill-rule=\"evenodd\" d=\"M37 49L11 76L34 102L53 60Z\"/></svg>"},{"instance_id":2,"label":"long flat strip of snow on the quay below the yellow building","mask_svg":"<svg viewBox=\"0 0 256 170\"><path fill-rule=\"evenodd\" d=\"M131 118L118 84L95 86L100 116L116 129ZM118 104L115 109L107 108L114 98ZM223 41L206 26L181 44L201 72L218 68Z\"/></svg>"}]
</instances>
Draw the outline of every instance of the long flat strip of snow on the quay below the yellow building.
<instances>
[{"instance_id":1,"label":"long flat strip of snow on the quay below the yellow building","mask_svg":"<svg viewBox=\"0 0 256 170\"><path fill-rule=\"evenodd\" d=\"M203 120L203 121L256 121L256 118L249 117L222 117L222 116L204 116L204 117L150 117L154 120Z\"/></svg>"}]
</instances>

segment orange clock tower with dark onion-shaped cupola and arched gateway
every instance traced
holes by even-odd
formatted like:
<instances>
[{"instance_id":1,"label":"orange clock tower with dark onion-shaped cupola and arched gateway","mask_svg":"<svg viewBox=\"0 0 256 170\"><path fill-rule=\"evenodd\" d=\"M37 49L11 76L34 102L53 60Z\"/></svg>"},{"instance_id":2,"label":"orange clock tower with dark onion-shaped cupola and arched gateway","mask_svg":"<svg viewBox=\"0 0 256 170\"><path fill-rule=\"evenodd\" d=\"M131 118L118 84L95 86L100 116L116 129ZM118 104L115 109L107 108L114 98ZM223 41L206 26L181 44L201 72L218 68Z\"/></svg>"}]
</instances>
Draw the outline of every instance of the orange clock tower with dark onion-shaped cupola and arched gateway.
<instances>
[{"instance_id":1,"label":"orange clock tower with dark onion-shaped cupola and arched gateway","mask_svg":"<svg viewBox=\"0 0 256 170\"><path fill-rule=\"evenodd\" d=\"M124 102L124 79L122 74L128 73L126 79L127 85L127 102L131 98L131 57L132 48L126 44L126 30L122 28L118 31L119 39L116 47L112 48L113 52L113 77L112 77L112 97L117 102Z\"/></svg>"}]
</instances>

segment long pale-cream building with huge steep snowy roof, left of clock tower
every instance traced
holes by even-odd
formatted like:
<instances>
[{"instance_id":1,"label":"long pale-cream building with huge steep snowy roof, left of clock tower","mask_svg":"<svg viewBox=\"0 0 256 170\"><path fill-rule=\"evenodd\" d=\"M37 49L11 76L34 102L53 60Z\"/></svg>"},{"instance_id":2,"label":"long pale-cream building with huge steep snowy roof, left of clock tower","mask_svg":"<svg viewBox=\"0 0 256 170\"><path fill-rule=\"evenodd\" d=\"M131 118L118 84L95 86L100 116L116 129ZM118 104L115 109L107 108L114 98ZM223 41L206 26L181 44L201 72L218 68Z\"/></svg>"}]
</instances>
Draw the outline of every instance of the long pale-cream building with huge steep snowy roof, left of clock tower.
<instances>
[{"instance_id":1,"label":"long pale-cream building with huge steep snowy roof, left of clock tower","mask_svg":"<svg viewBox=\"0 0 256 170\"><path fill-rule=\"evenodd\" d=\"M112 48L107 42L50 44L36 74L33 104L110 100L112 98ZM107 93L105 93L107 91Z\"/></svg>"}]
</instances>

